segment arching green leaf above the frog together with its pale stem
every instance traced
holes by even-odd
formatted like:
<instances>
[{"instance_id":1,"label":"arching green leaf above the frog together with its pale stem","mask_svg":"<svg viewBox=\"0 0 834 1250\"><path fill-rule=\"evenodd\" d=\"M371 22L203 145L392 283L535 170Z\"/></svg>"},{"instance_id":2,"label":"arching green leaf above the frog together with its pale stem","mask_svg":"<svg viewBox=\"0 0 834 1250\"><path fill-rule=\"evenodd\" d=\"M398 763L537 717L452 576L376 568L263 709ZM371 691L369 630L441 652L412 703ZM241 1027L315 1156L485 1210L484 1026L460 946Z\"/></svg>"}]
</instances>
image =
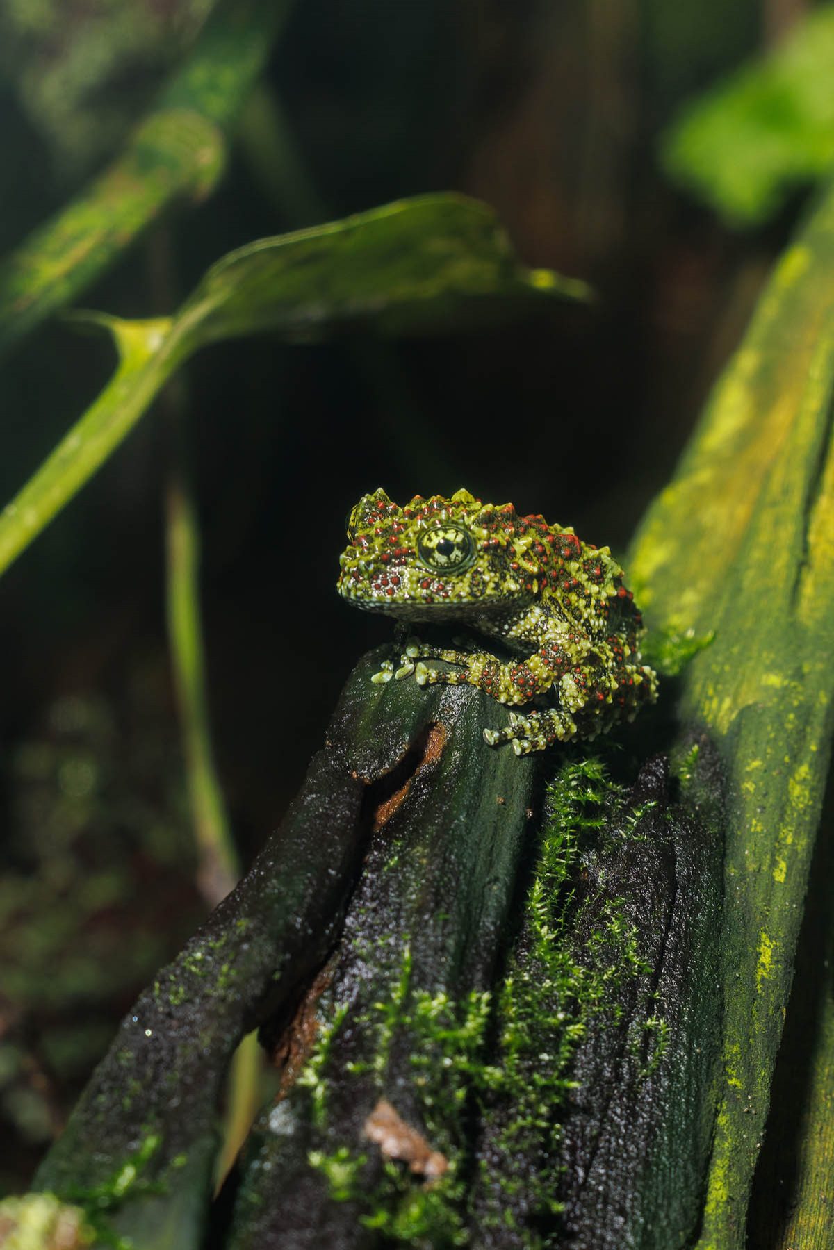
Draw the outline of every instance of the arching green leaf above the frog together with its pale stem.
<instances>
[{"instance_id":1,"label":"arching green leaf above the frog together with its pale stem","mask_svg":"<svg viewBox=\"0 0 834 1250\"><path fill-rule=\"evenodd\" d=\"M256 331L323 338L355 322L380 334L439 332L548 308L554 299L588 298L584 282L520 265L486 205L426 195L230 252L173 318L75 314L113 334L119 366L0 516L0 572L205 344Z\"/></svg>"}]
</instances>

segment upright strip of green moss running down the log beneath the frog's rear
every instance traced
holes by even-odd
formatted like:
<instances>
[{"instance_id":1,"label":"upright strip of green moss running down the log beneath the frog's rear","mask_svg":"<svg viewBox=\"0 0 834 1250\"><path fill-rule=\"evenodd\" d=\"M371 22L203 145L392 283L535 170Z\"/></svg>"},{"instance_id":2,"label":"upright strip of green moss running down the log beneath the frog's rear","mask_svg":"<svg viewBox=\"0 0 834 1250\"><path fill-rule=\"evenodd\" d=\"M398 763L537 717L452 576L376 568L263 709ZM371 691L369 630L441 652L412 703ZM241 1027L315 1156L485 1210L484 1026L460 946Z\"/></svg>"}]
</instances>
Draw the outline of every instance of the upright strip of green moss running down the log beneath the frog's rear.
<instances>
[{"instance_id":1,"label":"upright strip of green moss running down the log beneath the frog's rear","mask_svg":"<svg viewBox=\"0 0 834 1250\"><path fill-rule=\"evenodd\" d=\"M514 1210L526 1219L516 1228L525 1248L550 1244L534 1231L554 1226L559 1212L560 1175L554 1168L561 1139L560 1109L574 1088L571 1066L576 1046L590 1028L615 1024L621 1015L618 996L624 984L649 969L639 934L626 920L619 899L604 900L581 955L571 932L581 930L583 909L593 898L576 898L576 881L589 840L641 838L639 820L651 801L628 806L600 760L568 760L548 788L538 864L528 894L525 918L498 996L498 1055L484 1099L484 1132L489 1149L479 1158L479 1218L484 1226L515 1225ZM604 848L603 848L604 849ZM645 1074L660 1061L665 1024L646 1001L639 1036L630 1038L641 1052L645 1030L656 1044Z\"/></svg>"}]
</instances>

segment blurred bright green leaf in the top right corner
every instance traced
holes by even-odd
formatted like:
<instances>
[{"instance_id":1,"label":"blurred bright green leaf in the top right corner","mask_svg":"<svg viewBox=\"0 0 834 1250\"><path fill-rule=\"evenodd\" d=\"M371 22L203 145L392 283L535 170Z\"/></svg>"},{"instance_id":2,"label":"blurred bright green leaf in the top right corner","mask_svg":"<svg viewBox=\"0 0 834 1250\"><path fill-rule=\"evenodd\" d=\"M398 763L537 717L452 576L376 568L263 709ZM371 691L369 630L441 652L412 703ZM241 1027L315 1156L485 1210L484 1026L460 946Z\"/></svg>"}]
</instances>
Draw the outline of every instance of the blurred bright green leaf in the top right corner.
<instances>
[{"instance_id":1,"label":"blurred bright green leaf in the top right corner","mask_svg":"<svg viewBox=\"0 0 834 1250\"><path fill-rule=\"evenodd\" d=\"M834 6L688 105L663 139L669 175L735 226L768 218L834 161Z\"/></svg>"}]
</instances>

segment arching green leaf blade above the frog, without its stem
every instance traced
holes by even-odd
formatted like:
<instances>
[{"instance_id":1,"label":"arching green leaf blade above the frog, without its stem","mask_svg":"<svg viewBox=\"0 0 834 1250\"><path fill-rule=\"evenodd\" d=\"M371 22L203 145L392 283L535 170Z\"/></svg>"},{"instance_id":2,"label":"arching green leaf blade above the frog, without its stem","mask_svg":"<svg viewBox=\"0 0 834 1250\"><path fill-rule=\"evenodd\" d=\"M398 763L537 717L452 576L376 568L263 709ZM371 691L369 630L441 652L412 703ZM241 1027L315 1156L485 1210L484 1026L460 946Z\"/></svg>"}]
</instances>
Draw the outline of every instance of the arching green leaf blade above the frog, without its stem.
<instances>
[{"instance_id":1,"label":"arching green leaf blade above the frog, without its stem","mask_svg":"<svg viewBox=\"0 0 834 1250\"><path fill-rule=\"evenodd\" d=\"M589 294L584 282L520 265L485 204L441 194L240 248L211 266L178 321L195 346L264 330L321 339L355 321L430 334Z\"/></svg>"}]
</instances>

